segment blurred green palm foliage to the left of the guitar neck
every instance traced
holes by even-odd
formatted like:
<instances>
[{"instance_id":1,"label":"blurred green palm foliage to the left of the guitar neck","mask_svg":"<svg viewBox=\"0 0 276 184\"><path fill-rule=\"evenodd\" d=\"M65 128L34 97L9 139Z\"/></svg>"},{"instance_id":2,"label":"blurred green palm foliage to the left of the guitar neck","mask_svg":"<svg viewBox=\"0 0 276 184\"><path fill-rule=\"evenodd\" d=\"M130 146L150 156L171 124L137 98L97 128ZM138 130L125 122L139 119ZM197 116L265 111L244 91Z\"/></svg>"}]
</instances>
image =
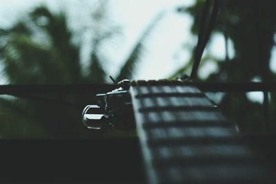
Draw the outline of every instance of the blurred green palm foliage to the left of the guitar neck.
<instances>
[{"instance_id":1,"label":"blurred green palm foliage to the left of the guitar neck","mask_svg":"<svg viewBox=\"0 0 276 184\"><path fill-rule=\"evenodd\" d=\"M101 6L104 6L101 3ZM104 19L106 12L95 10L92 21L98 23ZM150 25L154 26L155 21ZM105 26L105 25L102 25ZM108 28L108 26L106 26ZM151 29L150 28L150 29ZM141 47L150 29L143 33L134 46L130 57L123 64L117 79L131 78L135 64L139 62ZM0 30L0 62L4 66L3 75L11 84L83 84L106 82L107 72L103 67L105 60L98 50L103 41L112 37L117 30L95 30L94 39L90 43L90 61L88 72L81 69L79 59L81 44L73 44L76 34L69 28L66 13L51 12L46 6L32 10L26 18L10 28ZM109 81L108 81L109 82ZM48 96L49 97L49 96ZM51 95L50 98L72 102L75 104L95 103L91 95ZM105 132L91 132L81 123L79 108L24 100L21 98L0 99L0 136L11 138L66 138L66 137L104 137L132 136L133 132L122 134L121 131L107 129ZM119 134L118 134L119 132Z\"/></svg>"}]
</instances>

